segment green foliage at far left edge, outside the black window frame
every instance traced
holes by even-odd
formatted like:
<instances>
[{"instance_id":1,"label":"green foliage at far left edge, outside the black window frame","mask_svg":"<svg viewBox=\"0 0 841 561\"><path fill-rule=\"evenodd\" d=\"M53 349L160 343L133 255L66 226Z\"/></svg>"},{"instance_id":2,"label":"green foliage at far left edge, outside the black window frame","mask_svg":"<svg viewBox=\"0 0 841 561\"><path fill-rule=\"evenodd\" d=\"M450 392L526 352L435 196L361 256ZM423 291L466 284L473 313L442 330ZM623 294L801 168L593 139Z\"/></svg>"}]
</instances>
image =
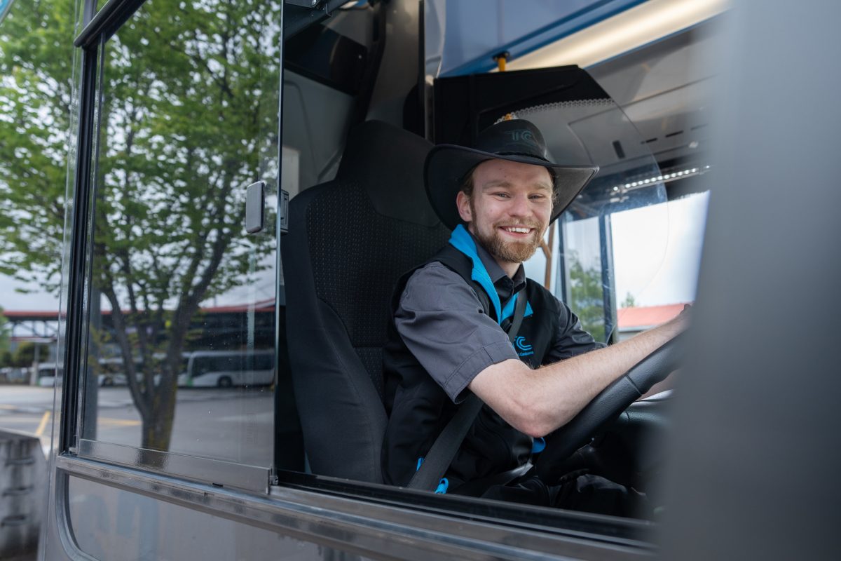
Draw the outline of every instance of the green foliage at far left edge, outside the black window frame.
<instances>
[{"instance_id":1,"label":"green foliage at far left edge, outside the black window frame","mask_svg":"<svg viewBox=\"0 0 841 561\"><path fill-rule=\"evenodd\" d=\"M18 2L0 26L0 274L56 292L72 99L74 3Z\"/></svg>"}]
</instances>

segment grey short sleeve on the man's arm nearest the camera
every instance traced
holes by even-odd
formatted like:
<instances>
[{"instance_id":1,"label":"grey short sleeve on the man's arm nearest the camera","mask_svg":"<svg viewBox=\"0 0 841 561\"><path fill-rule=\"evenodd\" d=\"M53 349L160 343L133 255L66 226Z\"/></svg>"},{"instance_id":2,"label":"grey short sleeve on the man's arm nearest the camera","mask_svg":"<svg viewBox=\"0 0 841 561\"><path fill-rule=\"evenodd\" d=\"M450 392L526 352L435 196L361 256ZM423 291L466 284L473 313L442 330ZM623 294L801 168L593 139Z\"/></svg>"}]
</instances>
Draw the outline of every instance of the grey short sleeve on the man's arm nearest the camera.
<instances>
[{"instance_id":1,"label":"grey short sleeve on the man's arm nearest the camera","mask_svg":"<svg viewBox=\"0 0 841 561\"><path fill-rule=\"evenodd\" d=\"M505 331L484 313L479 296L439 263L415 272L394 313L394 325L421 366L459 403L468 384L492 364L517 359Z\"/></svg>"}]
</instances>

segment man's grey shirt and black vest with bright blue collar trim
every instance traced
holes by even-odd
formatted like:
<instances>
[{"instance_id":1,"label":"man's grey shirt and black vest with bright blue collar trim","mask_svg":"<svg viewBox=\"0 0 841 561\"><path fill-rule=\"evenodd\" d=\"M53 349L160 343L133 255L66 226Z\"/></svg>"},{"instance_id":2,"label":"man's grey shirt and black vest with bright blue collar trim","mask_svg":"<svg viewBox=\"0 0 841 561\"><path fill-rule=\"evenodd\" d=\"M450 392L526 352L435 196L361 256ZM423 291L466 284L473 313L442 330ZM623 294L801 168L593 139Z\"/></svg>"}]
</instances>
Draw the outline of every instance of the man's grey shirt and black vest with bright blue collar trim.
<instances>
[{"instance_id":1,"label":"man's grey shirt and black vest with bright blue collar trim","mask_svg":"<svg viewBox=\"0 0 841 561\"><path fill-rule=\"evenodd\" d=\"M389 411L383 476L389 484L408 484L466 397L468 385L485 368L510 358L537 368L602 346L582 330L566 305L539 284L526 281L522 267L509 278L466 230L460 234L470 255L457 249L451 238L452 245L404 277L394 294L394 320L383 352ZM490 282L474 282L471 267L484 267ZM506 320L500 325L494 317L505 314L485 310L487 299L479 298L479 291L487 294L491 283L500 307L514 294L527 298L517 348L503 329ZM531 454L532 438L485 405L447 479L453 489L516 468Z\"/></svg>"}]
</instances>

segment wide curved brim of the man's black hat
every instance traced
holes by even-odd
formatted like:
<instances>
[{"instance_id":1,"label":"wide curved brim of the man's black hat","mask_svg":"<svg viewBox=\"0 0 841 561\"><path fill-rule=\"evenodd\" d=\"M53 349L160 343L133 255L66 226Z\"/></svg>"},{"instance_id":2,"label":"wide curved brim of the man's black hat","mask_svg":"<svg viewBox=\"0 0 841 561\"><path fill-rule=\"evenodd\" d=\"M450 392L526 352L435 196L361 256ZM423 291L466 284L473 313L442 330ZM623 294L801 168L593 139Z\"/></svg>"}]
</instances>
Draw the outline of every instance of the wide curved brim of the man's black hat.
<instances>
[{"instance_id":1,"label":"wide curved brim of the man's black hat","mask_svg":"<svg viewBox=\"0 0 841 561\"><path fill-rule=\"evenodd\" d=\"M518 161L551 170L555 179L556 195L550 224L573 202L573 199L599 171L598 166L565 166L553 164L551 161L535 156L493 154L466 146L439 144L426 156L424 183L426 196L429 198L432 209L450 230L462 222L458 214L456 196L462 188L463 177L473 167L488 160Z\"/></svg>"}]
</instances>

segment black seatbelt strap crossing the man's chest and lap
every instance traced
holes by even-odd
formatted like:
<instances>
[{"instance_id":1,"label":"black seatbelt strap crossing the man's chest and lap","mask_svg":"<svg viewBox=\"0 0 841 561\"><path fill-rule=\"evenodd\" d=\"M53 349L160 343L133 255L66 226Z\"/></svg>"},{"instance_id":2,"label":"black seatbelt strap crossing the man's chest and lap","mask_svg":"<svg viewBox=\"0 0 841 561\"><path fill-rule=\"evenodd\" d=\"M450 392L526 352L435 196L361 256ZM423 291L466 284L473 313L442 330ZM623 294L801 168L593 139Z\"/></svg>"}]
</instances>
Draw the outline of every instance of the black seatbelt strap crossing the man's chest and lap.
<instances>
[{"instance_id":1,"label":"black seatbelt strap crossing the man's chest and lap","mask_svg":"<svg viewBox=\"0 0 841 561\"><path fill-rule=\"evenodd\" d=\"M517 331L520 331L525 313L526 290L523 289L517 298L514 315L508 328L508 338L511 344L514 344ZM464 400L461 407L456 411L456 415L447 423L447 426L444 427L444 430L432 444L429 453L426 454L426 458L421 463L421 467L412 476L408 485L409 489L430 491L436 489L441 478L447 473L452 458L455 458L458 447L462 445L464 437L467 436L470 426L473 425L476 415L479 415L482 405L484 405L482 400L479 400L479 396L473 393Z\"/></svg>"}]
</instances>

